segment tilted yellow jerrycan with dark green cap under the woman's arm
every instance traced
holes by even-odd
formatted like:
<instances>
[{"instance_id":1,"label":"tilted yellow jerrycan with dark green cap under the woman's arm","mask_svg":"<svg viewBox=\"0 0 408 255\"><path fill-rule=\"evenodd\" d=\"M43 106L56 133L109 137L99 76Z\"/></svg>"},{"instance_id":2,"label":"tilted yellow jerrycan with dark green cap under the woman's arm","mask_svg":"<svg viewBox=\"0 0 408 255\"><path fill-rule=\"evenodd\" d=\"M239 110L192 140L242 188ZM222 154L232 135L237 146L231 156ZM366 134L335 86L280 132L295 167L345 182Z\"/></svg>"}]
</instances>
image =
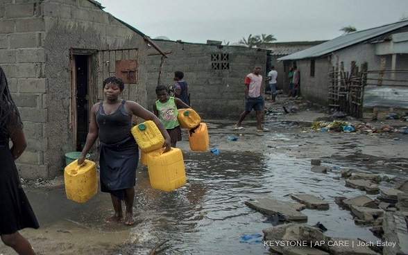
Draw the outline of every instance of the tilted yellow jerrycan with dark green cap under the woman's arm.
<instances>
[{"instance_id":1,"label":"tilted yellow jerrycan with dark green cap under the woman's arm","mask_svg":"<svg viewBox=\"0 0 408 255\"><path fill-rule=\"evenodd\" d=\"M151 152L163 147L164 137L153 121L145 121L130 129L140 150Z\"/></svg>"}]
</instances>

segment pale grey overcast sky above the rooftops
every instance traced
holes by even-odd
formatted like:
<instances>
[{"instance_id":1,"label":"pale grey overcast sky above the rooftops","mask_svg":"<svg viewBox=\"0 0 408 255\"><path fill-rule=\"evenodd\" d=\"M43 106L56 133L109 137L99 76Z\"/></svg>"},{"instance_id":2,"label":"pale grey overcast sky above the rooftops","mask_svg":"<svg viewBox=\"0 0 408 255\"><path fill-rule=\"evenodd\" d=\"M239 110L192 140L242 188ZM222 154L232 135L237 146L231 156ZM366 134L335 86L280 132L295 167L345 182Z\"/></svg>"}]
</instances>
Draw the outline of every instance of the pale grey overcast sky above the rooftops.
<instances>
[{"instance_id":1,"label":"pale grey overcast sky above the rooftops","mask_svg":"<svg viewBox=\"0 0 408 255\"><path fill-rule=\"evenodd\" d=\"M97 0L151 38L205 43L273 35L275 42L327 40L408 17L408 0Z\"/></svg>"}]
</instances>

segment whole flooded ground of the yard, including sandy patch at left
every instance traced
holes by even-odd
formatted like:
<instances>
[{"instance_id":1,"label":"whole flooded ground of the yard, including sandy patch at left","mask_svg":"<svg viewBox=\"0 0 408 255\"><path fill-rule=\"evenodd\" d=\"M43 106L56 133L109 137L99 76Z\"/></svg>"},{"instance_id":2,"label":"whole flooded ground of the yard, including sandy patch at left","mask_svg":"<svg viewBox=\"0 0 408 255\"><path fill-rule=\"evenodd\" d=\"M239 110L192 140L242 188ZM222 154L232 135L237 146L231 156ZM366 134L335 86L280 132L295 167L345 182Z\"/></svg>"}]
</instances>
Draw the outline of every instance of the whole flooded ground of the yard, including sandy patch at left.
<instances>
[{"instance_id":1,"label":"whole flooded ground of the yard, including sandy patch at left","mask_svg":"<svg viewBox=\"0 0 408 255\"><path fill-rule=\"evenodd\" d=\"M57 178L26 184L41 228L22 233L37 253L44 255L150 254L164 240L167 243L155 254L268 254L262 237L248 236L262 236L262 229L271 227L271 222L244 202L253 197L293 201L288 196L291 193L310 193L328 201L330 209L303 210L309 225L321 222L328 229L326 236L377 240L368 227L355 225L350 212L334 202L335 196L365 194L346 187L338 177L345 168L379 173L393 179L380 186L393 187L407 176L407 135L314 131L310 123L327 118L325 112L295 101L285 100L284 104L292 112L282 114L281 104L268 105L273 112L266 116L264 125L271 132L255 132L253 118L244 121L246 130L239 132L233 129L235 120L203 120L209 128L210 148L219 149L219 155L192 152L183 133L177 147L183 152L187 184L176 191L151 188L146 166L140 164L137 223L132 227L104 222L113 212L109 195L99 192L78 204L66 199L62 178ZM237 137L237 141L228 136ZM311 159L320 159L332 171L312 173ZM0 254L13 253L0 245Z\"/></svg>"}]
</instances>

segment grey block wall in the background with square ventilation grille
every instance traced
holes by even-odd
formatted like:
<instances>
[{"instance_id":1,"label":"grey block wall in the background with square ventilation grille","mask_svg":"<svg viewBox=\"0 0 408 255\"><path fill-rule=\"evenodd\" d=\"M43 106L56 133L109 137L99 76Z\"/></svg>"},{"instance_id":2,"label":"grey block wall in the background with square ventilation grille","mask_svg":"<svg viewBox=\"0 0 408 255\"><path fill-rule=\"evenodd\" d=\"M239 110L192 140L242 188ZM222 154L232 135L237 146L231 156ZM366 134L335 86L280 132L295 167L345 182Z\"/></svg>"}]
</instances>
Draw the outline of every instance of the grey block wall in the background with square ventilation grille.
<instances>
[{"instance_id":1,"label":"grey block wall in the background with square ventilation grille","mask_svg":"<svg viewBox=\"0 0 408 255\"><path fill-rule=\"evenodd\" d=\"M154 40L162 51L171 51L164 60L162 84L173 84L174 71L185 73L192 108L201 118L238 120L244 110L244 78L261 64L266 75L268 51L239 46L216 46ZM149 51L149 52L154 52ZM228 70L212 69L212 54L228 54ZM158 85L160 55L148 56L148 109L153 111ZM264 91L264 88L262 88ZM252 112L248 118L254 118Z\"/></svg>"}]
</instances>

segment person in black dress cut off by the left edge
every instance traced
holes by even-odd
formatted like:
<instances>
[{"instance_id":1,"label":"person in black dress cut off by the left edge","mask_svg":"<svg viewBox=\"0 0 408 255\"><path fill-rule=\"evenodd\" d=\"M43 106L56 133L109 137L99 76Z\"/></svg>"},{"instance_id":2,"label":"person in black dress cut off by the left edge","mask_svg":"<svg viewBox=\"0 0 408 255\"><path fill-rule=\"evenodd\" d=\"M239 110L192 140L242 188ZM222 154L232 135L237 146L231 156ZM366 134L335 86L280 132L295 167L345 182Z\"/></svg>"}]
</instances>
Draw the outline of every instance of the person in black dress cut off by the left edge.
<instances>
[{"instance_id":1,"label":"person in black dress cut off by the left edge","mask_svg":"<svg viewBox=\"0 0 408 255\"><path fill-rule=\"evenodd\" d=\"M0 67L0 236L3 243L17 254L34 255L31 244L19 234L21 229L40 227L15 165L26 146L22 119Z\"/></svg>"}]
</instances>

